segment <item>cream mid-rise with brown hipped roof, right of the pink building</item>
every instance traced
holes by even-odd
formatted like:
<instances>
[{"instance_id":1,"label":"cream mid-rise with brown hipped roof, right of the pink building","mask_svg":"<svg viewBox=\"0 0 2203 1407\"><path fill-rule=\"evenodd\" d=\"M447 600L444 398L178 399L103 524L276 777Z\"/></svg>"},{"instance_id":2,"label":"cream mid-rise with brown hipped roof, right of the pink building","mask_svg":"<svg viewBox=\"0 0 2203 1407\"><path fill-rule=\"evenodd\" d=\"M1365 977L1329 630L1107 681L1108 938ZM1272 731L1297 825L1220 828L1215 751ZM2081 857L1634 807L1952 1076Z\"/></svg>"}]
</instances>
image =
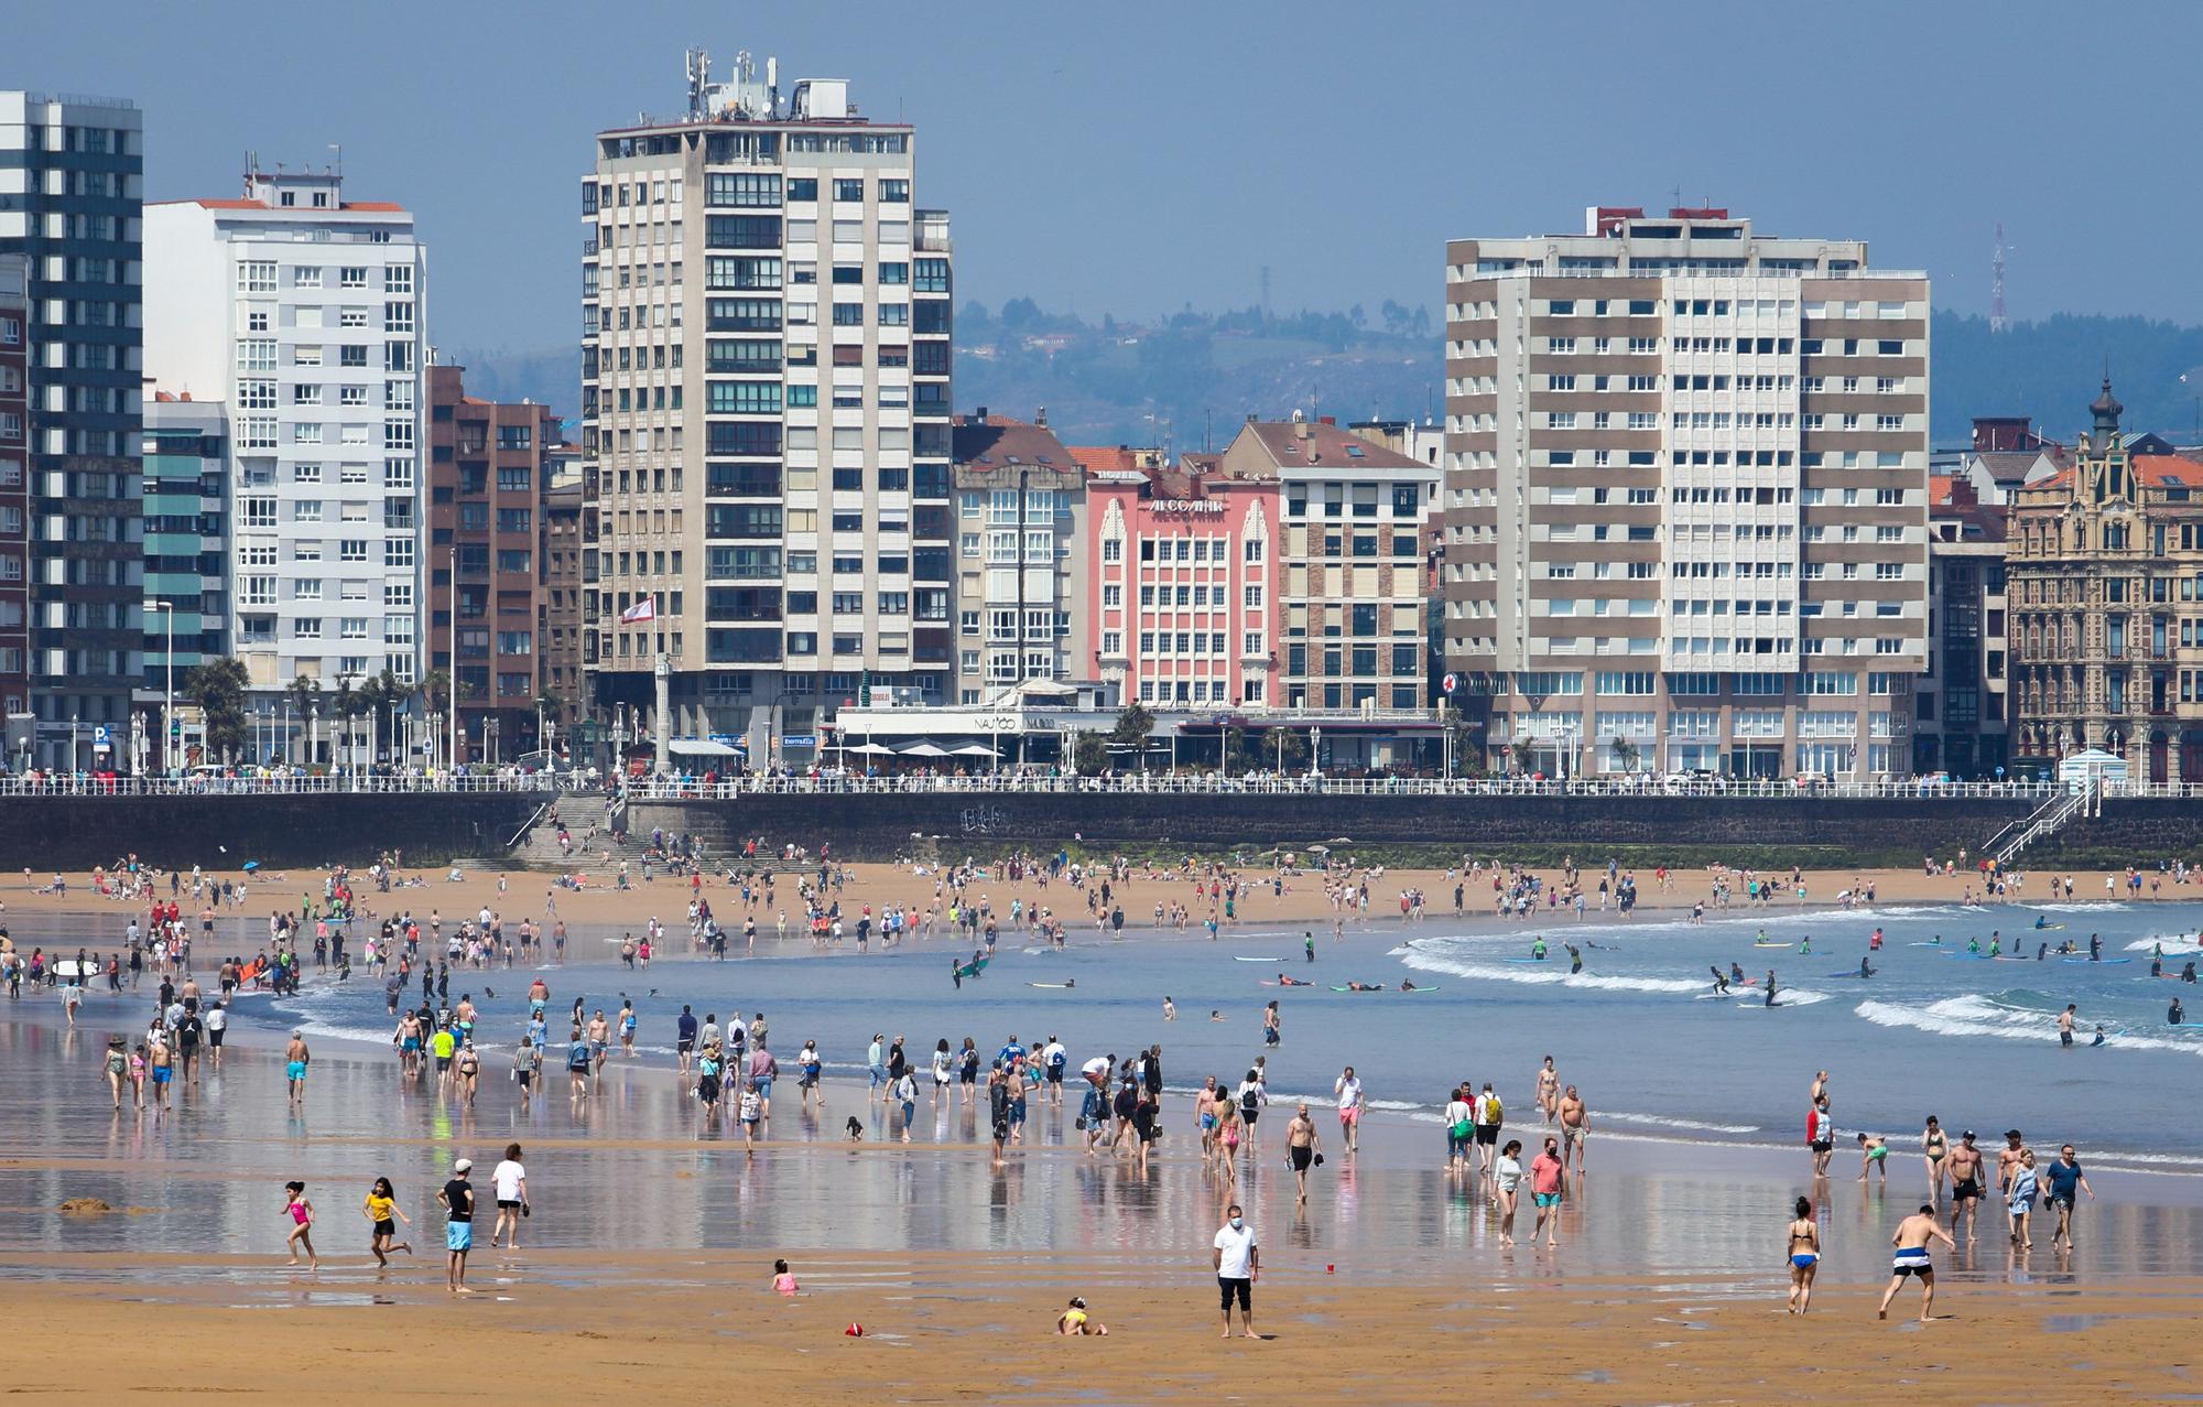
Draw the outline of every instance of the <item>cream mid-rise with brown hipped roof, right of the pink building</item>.
<instances>
[{"instance_id":1,"label":"cream mid-rise with brown hipped roof, right of the pink building","mask_svg":"<svg viewBox=\"0 0 2203 1407\"><path fill-rule=\"evenodd\" d=\"M1225 445L1227 479L1276 479L1287 708L1414 710L1430 699L1430 556L1439 470L1339 430L1328 417L1249 419ZM1260 587L1249 582L1251 595ZM1260 648L1258 648L1260 644ZM1278 640L1234 642L1269 655ZM1361 759L1370 761L1370 759Z\"/></svg>"}]
</instances>

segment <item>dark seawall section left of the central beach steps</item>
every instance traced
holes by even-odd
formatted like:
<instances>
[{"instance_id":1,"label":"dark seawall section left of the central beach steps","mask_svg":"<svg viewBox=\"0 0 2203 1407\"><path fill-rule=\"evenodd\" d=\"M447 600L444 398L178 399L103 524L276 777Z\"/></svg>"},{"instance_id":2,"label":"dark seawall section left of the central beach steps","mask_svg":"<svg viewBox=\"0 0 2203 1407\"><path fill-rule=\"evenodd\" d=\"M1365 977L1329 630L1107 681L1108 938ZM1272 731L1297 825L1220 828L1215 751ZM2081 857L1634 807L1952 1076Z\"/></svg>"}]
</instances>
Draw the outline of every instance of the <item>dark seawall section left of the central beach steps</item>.
<instances>
[{"instance_id":1,"label":"dark seawall section left of the central beach steps","mask_svg":"<svg viewBox=\"0 0 2203 1407\"><path fill-rule=\"evenodd\" d=\"M176 869L366 864L388 849L408 864L502 856L542 801L529 792L9 796L0 867L90 869L132 853Z\"/></svg>"}]
</instances>

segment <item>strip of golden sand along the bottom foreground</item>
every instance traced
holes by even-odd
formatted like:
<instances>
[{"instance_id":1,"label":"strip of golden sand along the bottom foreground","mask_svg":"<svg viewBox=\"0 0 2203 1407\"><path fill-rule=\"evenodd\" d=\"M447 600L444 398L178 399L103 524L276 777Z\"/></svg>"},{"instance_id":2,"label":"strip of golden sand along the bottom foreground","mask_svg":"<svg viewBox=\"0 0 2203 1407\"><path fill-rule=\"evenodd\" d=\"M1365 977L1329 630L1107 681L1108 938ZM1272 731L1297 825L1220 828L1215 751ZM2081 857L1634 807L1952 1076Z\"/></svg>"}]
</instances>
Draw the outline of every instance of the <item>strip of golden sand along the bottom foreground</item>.
<instances>
[{"instance_id":1,"label":"strip of golden sand along the bottom foreground","mask_svg":"<svg viewBox=\"0 0 2203 1407\"><path fill-rule=\"evenodd\" d=\"M1258 1288L1265 1341L1216 1339L1198 1266L1035 1257L795 1257L804 1295L738 1255L478 1255L456 1301L436 1257L388 1279L194 1257L192 1284L0 1286L11 1325L68 1325L77 1347L9 1354L22 1394L234 1394L388 1403L493 1398L767 1403L1430 1403L1463 1392L1571 1403L2133 1403L2192 1396L2199 1286L1945 1288L1919 1325L1906 1292L1831 1290L1791 1319L1703 1279ZM586 1264L584 1264L586 1259ZM29 1270L29 1266L24 1266ZM112 1268L128 1279L123 1266ZM582 1270L582 1284L560 1284ZM249 1281L242 1292L238 1279ZM1108 1339L1053 1319L1084 1292ZM240 1308L242 1306L242 1308ZM289 1306L271 1319L267 1306ZM866 1336L844 1330L861 1323Z\"/></svg>"}]
</instances>

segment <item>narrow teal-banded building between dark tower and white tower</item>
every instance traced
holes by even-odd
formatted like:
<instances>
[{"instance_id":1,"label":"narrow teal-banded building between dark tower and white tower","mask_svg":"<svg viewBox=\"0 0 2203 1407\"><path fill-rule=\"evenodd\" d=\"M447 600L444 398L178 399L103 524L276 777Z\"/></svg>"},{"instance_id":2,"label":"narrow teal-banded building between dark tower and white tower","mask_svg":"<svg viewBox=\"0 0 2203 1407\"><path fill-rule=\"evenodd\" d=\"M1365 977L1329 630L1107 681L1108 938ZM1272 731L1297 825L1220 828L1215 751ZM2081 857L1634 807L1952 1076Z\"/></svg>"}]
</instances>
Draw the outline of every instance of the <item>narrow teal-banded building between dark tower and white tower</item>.
<instances>
[{"instance_id":1,"label":"narrow teal-banded building between dark tower and white tower","mask_svg":"<svg viewBox=\"0 0 2203 1407\"><path fill-rule=\"evenodd\" d=\"M137 697L145 763L176 767L196 739L170 701L194 668L229 657L229 408L156 390L145 401L143 463L145 677Z\"/></svg>"}]
</instances>

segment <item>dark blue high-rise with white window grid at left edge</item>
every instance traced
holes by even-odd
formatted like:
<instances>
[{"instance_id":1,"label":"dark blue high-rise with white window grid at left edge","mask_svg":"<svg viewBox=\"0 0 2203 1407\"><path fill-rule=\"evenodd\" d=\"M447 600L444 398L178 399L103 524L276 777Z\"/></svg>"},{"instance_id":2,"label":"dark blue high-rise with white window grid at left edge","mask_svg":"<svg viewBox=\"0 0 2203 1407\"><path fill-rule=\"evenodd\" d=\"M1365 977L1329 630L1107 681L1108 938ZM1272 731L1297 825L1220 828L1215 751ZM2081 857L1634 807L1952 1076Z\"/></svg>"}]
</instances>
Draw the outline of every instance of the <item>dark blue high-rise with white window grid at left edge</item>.
<instances>
[{"instance_id":1,"label":"dark blue high-rise with white window grid at left edge","mask_svg":"<svg viewBox=\"0 0 2203 1407\"><path fill-rule=\"evenodd\" d=\"M29 273L29 679L35 763L130 756L139 684L143 121L110 97L0 93L0 254Z\"/></svg>"}]
</instances>

